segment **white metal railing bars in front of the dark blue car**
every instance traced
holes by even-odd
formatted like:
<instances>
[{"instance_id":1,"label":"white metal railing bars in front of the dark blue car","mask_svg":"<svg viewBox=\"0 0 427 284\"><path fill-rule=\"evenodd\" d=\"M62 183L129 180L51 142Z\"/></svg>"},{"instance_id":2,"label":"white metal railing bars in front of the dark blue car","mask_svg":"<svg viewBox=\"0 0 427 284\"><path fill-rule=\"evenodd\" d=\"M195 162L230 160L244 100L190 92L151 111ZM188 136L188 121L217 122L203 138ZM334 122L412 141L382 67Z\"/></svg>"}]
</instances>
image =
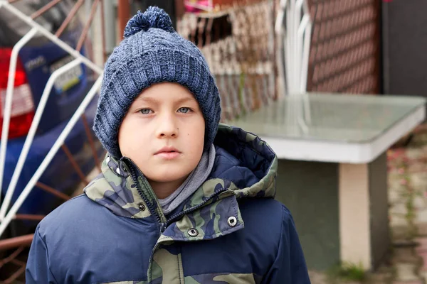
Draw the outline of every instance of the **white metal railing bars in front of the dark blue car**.
<instances>
[{"instance_id":1,"label":"white metal railing bars in front of the dark blue car","mask_svg":"<svg viewBox=\"0 0 427 284\"><path fill-rule=\"evenodd\" d=\"M6 227L10 224L11 220L14 218L16 212L18 212L19 208L21 207L23 202L26 200L26 197L28 196L28 194L31 192L31 190L33 190L33 187L34 185L36 185L36 182L38 181L38 179L41 177L41 175L43 175L43 172L46 170L49 163L58 152L58 149L60 148L60 146L64 143L65 138L73 129L73 126L75 126L78 119L80 119L80 116L82 116L86 107L88 107L88 104L90 103L90 101L95 97L95 94L97 94L98 90L100 89L100 84L102 82L102 68L96 65L94 62L92 62L88 58L86 58L85 56L81 55L78 50L75 50L74 48L70 47L70 45L60 40L56 35L53 35L51 32L46 30L46 28L43 28L43 26L36 23L36 21L33 21L33 18L25 15L24 13L19 11L19 9L16 9L12 4L9 4L8 1L0 0L0 9L8 10L10 13L14 14L14 16L16 16L17 18L20 18L23 22L27 23L28 26L31 27L31 30L28 31L28 33L26 33L26 35L24 35L23 38L21 38L21 40L19 40L19 42L16 43L16 45L12 49L11 62L9 65L9 78L8 78L8 84L6 89L6 100L5 100L5 106L4 106L5 110L4 110L3 129L1 132L0 192L1 192L3 175L4 175L4 165L6 160L6 146L8 141L9 123L10 123L10 117L11 117L11 102L12 102L12 96L14 92L16 62L17 62L19 50L21 50L21 48L24 45L26 45L26 43L28 43L28 40L30 40L34 35L36 35L36 33L40 33L41 35L44 35L46 38L51 40L52 43L55 43L56 45L58 45L60 48L62 48L63 50L65 50L67 53L69 53L71 56L75 58L75 60L73 60L72 62L69 62L67 65L60 67L58 70L53 72L45 86L45 89L43 90L41 101L38 104L30 130L28 131L28 135L26 136L26 141L24 142L23 148L21 150L21 154L19 155L19 160L16 165L16 169L14 170L14 174L12 175L11 182L9 183L9 187L6 191L5 199L3 201L3 204L0 207L0 221L1 221L0 236L1 236L1 234L4 233L4 230L6 229ZM13 196L14 191L16 190L16 185L17 185L19 176L21 175L23 164L25 163L29 148L31 147L31 143L33 142L33 138L35 136L36 129L40 122L41 115L43 114L43 110L46 107L46 102L48 100L49 94L51 93L51 89L53 88L53 84L56 82L56 79L60 75L62 75L64 72L67 72L71 68L82 63L97 73L98 75L97 80L95 81L95 83L93 84L93 87L90 89L90 91L86 95L85 99L83 99L83 102L80 104L80 107L78 107L78 109L75 111L75 113L71 117L70 121L68 121L68 124L65 126L65 129L63 129L63 131L60 133L60 136L58 136L58 139L53 144L51 150L48 152L48 154L44 158L41 165L39 165L38 169L36 170L36 173L34 173L33 177L28 182L26 187L23 189L23 192L21 192L16 202L14 202L9 212L7 212L7 209L11 202L11 197Z\"/></svg>"}]
</instances>

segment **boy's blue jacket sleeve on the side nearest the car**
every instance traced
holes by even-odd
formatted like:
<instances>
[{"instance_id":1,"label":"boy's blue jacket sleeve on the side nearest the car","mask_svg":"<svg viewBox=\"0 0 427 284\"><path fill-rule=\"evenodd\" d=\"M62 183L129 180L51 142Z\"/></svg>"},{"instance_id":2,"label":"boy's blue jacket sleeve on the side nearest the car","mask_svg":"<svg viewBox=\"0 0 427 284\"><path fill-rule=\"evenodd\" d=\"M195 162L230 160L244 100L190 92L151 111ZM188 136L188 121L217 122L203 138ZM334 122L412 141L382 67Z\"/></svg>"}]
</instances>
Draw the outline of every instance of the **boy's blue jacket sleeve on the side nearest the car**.
<instances>
[{"instance_id":1,"label":"boy's blue jacket sleeve on the side nearest the car","mask_svg":"<svg viewBox=\"0 0 427 284\"><path fill-rule=\"evenodd\" d=\"M26 283L57 283L49 263L49 253L45 241L40 235L40 226L37 226L31 244L26 266Z\"/></svg>"}]
</instances>

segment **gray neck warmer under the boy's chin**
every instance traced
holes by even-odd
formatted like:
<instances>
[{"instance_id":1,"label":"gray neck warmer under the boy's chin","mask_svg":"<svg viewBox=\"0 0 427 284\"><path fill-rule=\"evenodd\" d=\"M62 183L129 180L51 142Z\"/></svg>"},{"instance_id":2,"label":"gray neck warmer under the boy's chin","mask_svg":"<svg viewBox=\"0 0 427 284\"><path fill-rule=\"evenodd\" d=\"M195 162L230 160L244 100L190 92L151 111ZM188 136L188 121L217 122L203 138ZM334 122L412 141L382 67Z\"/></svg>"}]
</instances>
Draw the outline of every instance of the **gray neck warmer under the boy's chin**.
<instances>
[{"instance_id":1,"label":"gray neck warmer under the boy's chin","mask_svg":"<svg viewBox=\"0 0 427 284\"><path fill-rule=\"evenodd\" d=\"M189 177L180 185L172 195L159 199L165 215L172 212L182 202L190 197L209 177L215 161L215 146L211 144L209 150L201 155L199 165L190 173Z\"/></svg>"}]
</instances>

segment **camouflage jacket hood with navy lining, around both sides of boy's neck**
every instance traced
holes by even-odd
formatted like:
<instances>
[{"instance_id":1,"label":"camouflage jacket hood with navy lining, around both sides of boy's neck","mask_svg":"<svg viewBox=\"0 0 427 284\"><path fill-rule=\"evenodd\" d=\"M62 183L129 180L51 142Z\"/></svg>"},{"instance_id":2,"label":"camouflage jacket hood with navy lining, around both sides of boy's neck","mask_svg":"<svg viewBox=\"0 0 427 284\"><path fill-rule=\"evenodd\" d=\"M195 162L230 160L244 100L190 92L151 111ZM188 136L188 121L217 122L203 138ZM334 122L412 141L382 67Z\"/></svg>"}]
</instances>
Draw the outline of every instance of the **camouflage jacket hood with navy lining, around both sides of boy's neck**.
<instances>
[{"instance_id":1,"label":"camouflage jacket hood with navy lining, around both sides of boy's neck","mask_svg":"<svg viewBox=\"0 0 427 284\"><path fill-rule=\"evenodd\" d=\"M220 124L214 141L216 158L209 178L180 211L199 209L224 197L274 197L277 157L267 143L253 133ZM122 217L144 218L162 214L149 183L132 160L106 155L102 173L85 187L93 201ZM150 210L142 210L148 206ZM194 211L194 210L193 210Z\"/></svg>"}]
</instances>

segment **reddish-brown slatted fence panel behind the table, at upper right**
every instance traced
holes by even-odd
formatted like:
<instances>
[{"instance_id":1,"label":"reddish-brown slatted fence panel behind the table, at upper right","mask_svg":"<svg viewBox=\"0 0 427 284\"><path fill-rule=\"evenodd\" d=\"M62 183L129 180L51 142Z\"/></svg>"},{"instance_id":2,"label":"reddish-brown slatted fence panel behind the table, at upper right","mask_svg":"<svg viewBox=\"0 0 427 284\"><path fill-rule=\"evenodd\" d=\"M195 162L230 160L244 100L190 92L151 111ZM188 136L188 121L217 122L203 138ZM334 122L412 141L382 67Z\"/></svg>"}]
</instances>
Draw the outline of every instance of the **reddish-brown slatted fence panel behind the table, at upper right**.
<instances>
[{"instance_id":1,"label":"reddish-brown slatted fence panel behind the table, at upper right","mask_svg":"<svg viewBox=\"0 0 427 284\"><path fill-rule=\"evenodd\" d=\"M377 0L311 0L314 22L307 89L311 92L377 94Z\"/></svg>"}]
</instances>

